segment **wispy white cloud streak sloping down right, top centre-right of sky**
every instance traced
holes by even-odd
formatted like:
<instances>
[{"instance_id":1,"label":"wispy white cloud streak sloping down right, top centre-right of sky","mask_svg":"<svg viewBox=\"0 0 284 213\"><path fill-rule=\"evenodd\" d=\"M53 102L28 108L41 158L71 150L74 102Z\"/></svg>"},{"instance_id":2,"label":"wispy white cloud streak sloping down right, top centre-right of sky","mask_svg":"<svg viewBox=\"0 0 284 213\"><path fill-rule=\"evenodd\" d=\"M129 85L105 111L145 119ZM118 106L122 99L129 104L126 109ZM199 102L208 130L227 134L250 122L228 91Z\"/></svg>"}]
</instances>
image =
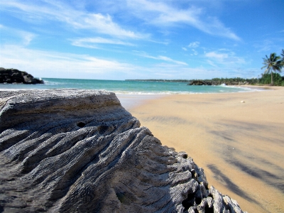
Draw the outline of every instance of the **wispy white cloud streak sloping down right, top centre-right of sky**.
<instances>
[{"instance_id":1,"label":"wispy white cloud streak sloping down right, top centre-right of sky","mask_svg":"<svg viewBox=\"0 0 284 213\"><path fill-rule=\"evenodd\" d=\"M173 5L165 3L165 1L127 0L127 3L134 15L158 27L187 24L204 33L241 40L230 28L225 27L218 18L206 16L201 8L192 6L187 9L177 9Z\"/></svg>"}]
</instances>

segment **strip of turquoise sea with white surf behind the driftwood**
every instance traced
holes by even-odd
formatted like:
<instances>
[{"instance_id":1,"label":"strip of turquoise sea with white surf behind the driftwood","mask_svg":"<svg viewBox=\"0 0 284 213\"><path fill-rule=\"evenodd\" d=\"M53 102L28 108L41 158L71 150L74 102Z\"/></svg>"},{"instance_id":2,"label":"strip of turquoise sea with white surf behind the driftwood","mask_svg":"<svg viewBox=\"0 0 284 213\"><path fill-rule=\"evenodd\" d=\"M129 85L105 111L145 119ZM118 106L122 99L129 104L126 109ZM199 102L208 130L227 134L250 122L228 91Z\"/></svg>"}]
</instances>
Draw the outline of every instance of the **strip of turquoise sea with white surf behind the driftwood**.
<instances>
[{"instance_id":1,"label":"strip of turquoise sea with white surf behind the driftwood","mask_svg":"<svg viewBox=\"0 0 284 213\"><path fill-rule=\"evenodd\" d=\"M253 89L229 86L188 86L185 82L138 82L43 78L45 84L0 84L0 89L104 89L116 94L195 94L249 92Z\"/></svg>"}]
</instances>

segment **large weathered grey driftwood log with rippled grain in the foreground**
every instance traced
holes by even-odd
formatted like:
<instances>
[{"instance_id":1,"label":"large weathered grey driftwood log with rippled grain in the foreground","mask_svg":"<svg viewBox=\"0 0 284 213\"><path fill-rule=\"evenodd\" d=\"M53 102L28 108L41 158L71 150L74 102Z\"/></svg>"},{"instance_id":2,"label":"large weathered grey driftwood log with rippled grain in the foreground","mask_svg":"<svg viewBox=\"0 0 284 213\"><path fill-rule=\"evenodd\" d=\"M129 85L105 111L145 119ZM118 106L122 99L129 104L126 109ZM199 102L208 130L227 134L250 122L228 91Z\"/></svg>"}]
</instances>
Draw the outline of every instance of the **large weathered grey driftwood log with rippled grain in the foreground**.
<instances>
[{"instance_id":1,"label":"large weathered grey driftwood log with rippled grain in the foreground","mask_svg":"<svg viewBox=\"0 0 284 213\"><path fill-rule=\"evenodd\" d=\"M114 93L0 93L0 212L242 212Z\"/></svg>"}]
</instances>

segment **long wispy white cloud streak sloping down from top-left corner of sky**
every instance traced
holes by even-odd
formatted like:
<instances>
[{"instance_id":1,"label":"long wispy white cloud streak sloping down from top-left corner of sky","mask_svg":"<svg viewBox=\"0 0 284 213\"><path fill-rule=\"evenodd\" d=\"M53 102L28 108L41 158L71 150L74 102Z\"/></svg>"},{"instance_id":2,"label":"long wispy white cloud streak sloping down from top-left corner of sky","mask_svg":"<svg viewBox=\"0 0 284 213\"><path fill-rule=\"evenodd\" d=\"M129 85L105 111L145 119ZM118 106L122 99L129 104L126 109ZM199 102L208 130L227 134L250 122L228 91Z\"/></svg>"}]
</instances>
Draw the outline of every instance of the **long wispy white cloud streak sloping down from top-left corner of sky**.
<instances>
[{"instance_id":1,"label":"long wispy white cloud streak sloping down from top-left corner of sky","mask_svg":"<svg viewBox=\"0 0 284 213\"><path fill-rule=\"evenodd\" d=\"M39 21L59 21L76 29L88 29L97 33L107 34L119 38L146 39L149 34L136 33L129 31L115 23L109 14L89 13L87 11L77 10L60 1L0 1L1 9L17 9L14 16L21 16L23 13L26 21L38 23Z\"/></svg>"}]
</instances>

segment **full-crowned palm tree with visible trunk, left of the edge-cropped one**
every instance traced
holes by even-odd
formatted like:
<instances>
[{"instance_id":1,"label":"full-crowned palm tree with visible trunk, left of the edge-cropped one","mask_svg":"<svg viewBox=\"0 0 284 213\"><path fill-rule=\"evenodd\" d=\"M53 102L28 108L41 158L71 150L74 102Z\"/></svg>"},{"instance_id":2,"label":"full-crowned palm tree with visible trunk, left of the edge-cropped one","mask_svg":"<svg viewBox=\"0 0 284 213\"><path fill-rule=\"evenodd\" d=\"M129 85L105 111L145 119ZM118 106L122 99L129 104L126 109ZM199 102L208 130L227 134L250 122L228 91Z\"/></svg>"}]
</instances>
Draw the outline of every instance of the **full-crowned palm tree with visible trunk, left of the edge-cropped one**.
<instances>
[{"instance_id":1,"label":"full-crowned palm tree with visible trunk, left of the edge-cropped one","mask_svg":"<svg viewBox=\"0 0 284 213\"><path fill-rule=\"evenodd\" d=\"M273 85L273 71L281 72L283 65L280 56L276 55L276 53L271 53L271 56L268 58L266 55L266 58L263 58L263 65L265 66L261 67L261 69L266 67L264 73L271 72L271 85Z\"/></svg>"}]
</instances>

